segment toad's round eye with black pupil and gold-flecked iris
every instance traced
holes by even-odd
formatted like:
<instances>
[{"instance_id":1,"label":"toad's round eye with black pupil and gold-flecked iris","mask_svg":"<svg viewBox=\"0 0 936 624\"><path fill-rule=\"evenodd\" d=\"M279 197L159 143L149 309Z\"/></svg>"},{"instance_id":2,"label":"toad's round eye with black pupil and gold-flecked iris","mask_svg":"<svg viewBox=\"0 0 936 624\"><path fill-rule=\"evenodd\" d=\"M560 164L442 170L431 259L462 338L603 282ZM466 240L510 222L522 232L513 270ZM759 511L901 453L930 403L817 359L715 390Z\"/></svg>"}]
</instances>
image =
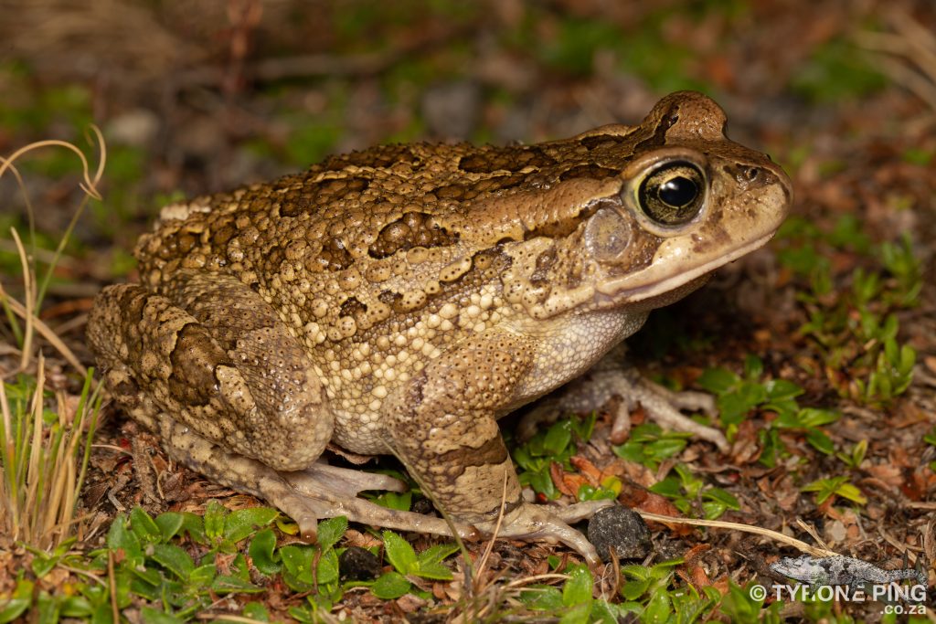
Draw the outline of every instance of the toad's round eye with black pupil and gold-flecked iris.
<instances>
[{"instance_id":1,"label":"toad's round eye with black pupil and gold-flecked iris","mask_svg":"<svg viewBox=\"0 0 936 624\"><path fill-rule=\"evenodd\" d=\"M692 221L705 200L705 177L701 169L685 161L657 167L644 178L637 191L640 210L660 225Z\"/></svg>"}]
</instances>

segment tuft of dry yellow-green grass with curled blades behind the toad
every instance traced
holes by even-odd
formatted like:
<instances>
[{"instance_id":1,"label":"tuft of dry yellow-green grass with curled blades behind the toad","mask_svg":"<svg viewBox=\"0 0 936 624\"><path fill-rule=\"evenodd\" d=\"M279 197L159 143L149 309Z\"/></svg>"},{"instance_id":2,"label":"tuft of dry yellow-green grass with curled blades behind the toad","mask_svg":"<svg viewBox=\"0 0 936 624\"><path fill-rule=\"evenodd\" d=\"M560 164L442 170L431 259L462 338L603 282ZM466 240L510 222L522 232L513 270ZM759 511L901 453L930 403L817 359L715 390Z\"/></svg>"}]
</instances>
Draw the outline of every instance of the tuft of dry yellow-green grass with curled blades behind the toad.
<instances>
[{"instance_id":1,"label":"tuft of dry yellow-green grass with curled blades behind the toad","mask_svg":"<svg viewBox=\"0 0 936 624\"><path fill-rule=\"evenodd\" d=\"M92 128L92 131L101 156L94 172L84 154L64 141L38 141L7 158L0 157L0 176L7 171L12 172L22 188L22 176L13 165L17 158L38 148L64 147L79 156L83 180L80 187L86 194L56 251L51 254L41 281L37 280L36 254L27 254L19 233L11 229L22 268L22 302L0 286L0 303L20 346L17 372L30 370L34 352L37 353L35 379L19 375L0 382L0 412L3 416L0 420L0 531L13 540L22 540L41 550L71 539L76 532L75 525L80 524L75 512L100 409L100 395L91 371L81 366L51 327L38 318L52 271L81 210L90 197L100 198L95 185L103 175L106 151L100 131L97 128ZM26 205L32 232L33 210L28 199ZM35 241L35 234L33 239ZM22 326L18 318L22 319ZM54 403L49 404L45 390L45 357L38 351L37 337L48 341L84 377L83 389L77 400L67 396L64 390L58 390Z\"/></svg>"}]
</instances>

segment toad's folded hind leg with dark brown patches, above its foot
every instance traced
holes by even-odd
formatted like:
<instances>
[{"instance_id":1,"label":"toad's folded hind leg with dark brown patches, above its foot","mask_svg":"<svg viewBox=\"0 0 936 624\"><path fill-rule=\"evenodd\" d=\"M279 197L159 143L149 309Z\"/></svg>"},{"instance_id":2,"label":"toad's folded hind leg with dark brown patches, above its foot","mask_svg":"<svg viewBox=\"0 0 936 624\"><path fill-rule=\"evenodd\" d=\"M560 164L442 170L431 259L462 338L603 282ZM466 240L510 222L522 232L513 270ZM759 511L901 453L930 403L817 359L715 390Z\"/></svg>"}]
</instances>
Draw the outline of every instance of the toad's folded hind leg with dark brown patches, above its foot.
<instances>
[{"instance_id":1,"label":"toad's folded hind leg with dark brown patches, above its foot","mask_svg":"<svg viewBox=\"0 0 936 624\"><path fill-rule=\"evenodd\" d=\"M110 286L88 339L111 393L144 425L177 422L278 470L312 464L333 419L303 345L239 280L180 271L165 296Z\"/></svg>"}]
</instances>

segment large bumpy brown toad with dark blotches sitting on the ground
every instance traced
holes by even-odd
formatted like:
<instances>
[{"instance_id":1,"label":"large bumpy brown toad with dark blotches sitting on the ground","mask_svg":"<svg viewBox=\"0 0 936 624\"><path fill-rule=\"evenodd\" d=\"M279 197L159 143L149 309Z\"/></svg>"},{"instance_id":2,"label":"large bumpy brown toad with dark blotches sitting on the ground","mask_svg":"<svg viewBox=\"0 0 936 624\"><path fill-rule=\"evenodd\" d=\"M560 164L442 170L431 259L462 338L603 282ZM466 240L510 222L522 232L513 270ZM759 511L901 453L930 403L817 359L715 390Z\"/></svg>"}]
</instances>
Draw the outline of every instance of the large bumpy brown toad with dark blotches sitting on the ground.
<instances>
[{"instance_id":1,"label":"large bumpy brown toad with dark blotches sitting on the ground","mask_svg":"<svg viewBox=\"0 0 936 624\"><path fill-rule=\"evenodd\" d=\"M400 457L464 535L505 497L502 534L595 562L563 523L593 506L522 502L496 419L772 236L789 181L723 129L722 109L681 92L635 127L377 147L169 206L139 240L141 282L97 297L90 344L173 457L309 534L337 514L447 531L354 499L386 479L310 469L331 442Z\"/></svg>"}]
</instances>

